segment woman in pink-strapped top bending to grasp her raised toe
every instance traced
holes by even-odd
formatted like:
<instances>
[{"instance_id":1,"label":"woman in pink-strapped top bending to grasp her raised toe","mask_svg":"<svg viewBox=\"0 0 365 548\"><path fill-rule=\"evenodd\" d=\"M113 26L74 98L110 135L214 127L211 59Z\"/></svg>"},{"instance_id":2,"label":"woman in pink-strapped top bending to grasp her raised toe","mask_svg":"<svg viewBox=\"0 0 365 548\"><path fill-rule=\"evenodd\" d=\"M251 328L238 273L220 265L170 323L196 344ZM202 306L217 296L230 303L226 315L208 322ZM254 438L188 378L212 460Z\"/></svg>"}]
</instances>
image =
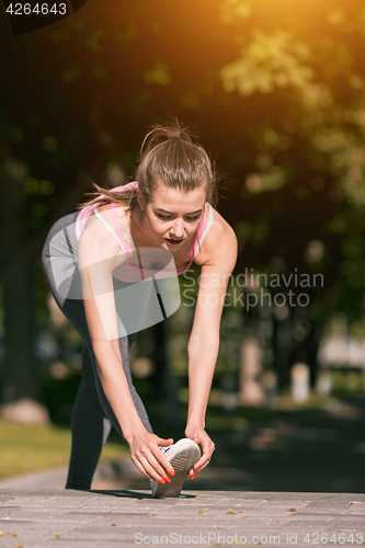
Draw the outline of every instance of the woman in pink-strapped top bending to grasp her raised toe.
<instances>
[{"instance_id":1,"label":"woman in pink-strapped top bending to grasp her raised toe","mask_svg":"<svg viewBox=\"0 0 365 548\"><path fill-rule=\"evenodd\" d=\"M207 153L179 124L156 126L146 136L136 182L111 191L94 186L95 197L59 219L43 250L50 290L83 341L66 488L90 489L113 425L151 480L153 495L175 496L214 452L205 412L236 236L212 207L216 189ZM128 346L138 330L176 308L175 290L169 297L164 284L193 261L202 266L202 282L187 346L186 438L173 445L152 432L130 378Z\"/></svg>"}]
</instances>

